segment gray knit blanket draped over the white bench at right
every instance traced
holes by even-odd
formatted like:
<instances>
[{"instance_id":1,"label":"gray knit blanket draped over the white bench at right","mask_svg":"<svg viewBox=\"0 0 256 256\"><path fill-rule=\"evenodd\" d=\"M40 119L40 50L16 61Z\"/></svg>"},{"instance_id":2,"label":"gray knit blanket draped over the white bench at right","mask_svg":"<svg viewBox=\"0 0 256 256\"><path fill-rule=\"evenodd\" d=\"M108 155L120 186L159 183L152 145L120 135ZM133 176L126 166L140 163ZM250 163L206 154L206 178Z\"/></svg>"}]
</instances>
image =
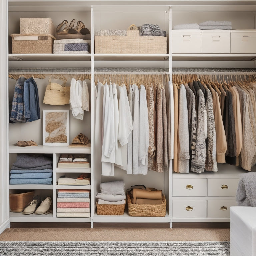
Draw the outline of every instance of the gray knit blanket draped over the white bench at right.
<instances>
[{"instance_id":1,"label":"gray knit blanket draped over the white bench at right","mask_svg":"<svg viewBox=\"0 0 256 256\"><path fill-rule=\"evenodd\" d=\"M256 207L256 173L243 174L236 191L237 206Z\"/></svg>"}]
</instances>

